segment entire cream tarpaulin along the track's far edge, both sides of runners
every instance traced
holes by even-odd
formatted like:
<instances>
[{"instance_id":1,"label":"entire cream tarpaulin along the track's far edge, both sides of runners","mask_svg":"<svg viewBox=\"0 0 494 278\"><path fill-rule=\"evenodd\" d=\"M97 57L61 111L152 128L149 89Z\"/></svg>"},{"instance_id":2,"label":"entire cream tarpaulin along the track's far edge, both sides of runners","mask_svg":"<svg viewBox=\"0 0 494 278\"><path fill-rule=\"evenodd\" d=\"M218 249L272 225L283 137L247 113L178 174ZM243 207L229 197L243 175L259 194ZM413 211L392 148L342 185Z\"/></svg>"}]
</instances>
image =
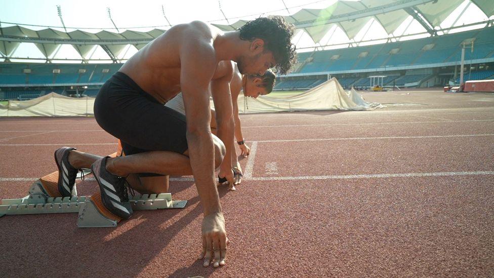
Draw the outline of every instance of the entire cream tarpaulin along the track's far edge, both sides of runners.
<instances>
[{"instance_id":1,"label":"entire cream tarpaulin along the track's far edge, both sides of runners","mask_svg":"<svg viewBox=\"0 0 494 278\"><path fill-rule=\"evenodd\" d=\"M180 102L182 102L181 95L177 97L180 97ZM170 107L172 103L173 100L167 106ZM257 99L248 98L247 103L245 103L245 98L239 97L237 103L239 113L371 110L384 107L380 103L366 102L353 89L346 92L335 77L295 96L259 96ZM89 116L94 115L93 105L94 98L92 97L70 98L50 93L31 100L11 100L8 105L0 105L0 116ZM214 107L212 100L211 107Z\"/></svg>"}]
</instances>

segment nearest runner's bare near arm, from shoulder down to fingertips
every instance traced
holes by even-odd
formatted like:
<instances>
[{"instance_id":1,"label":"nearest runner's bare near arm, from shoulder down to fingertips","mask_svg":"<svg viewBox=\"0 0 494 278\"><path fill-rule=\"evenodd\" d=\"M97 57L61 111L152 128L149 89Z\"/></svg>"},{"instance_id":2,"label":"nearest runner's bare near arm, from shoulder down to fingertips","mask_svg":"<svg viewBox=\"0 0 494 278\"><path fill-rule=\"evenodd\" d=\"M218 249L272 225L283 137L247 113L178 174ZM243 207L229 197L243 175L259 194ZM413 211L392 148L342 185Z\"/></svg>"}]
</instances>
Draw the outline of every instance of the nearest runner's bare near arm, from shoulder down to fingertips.
<instances>
[{"instance_id":1,"label":"nearest runner's bare near arm, from shoulder down to fingertips","mask_svg":"<svg viewBox=\"0 0 494 278\"><path fill-rule=\"evenodd\" d=\"M194 31L191 31L194 32ZM197 37L197 39L191 39ZM218 190L214 180L214 145L211 135L209 84L216 69L212 45L191 33L180 49L181 88L187 116L187 143L195 185L204 210L202 253L204 266L213 259L214 266L225 264L226 230Z\"/></svg>"}]
</instances>

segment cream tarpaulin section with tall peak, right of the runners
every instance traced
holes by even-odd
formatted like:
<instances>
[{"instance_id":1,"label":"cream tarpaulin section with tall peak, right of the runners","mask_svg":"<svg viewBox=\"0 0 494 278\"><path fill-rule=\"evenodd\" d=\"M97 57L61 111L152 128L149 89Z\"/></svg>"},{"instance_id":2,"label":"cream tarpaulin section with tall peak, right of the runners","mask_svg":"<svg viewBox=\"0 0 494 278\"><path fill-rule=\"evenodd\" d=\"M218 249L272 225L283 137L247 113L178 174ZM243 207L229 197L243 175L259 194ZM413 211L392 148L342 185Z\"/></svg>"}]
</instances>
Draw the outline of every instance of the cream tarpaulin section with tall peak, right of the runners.
<instances>
[{"instance_id":1,"label":"cream tarpaulin section with tall peak, right of the runners","mask_svg":"<svg viewBox=\"0 0 494 278\"><path fill-rule=\"evenodd\" d=\"M249 108L247 108L249 107ZM259 96L238 98L239 113L262 113L304 110L372 110L380 103L366 102L355 90L346 92L335 77L308 91L290 97Z\"/></svg>"}]
</instances>

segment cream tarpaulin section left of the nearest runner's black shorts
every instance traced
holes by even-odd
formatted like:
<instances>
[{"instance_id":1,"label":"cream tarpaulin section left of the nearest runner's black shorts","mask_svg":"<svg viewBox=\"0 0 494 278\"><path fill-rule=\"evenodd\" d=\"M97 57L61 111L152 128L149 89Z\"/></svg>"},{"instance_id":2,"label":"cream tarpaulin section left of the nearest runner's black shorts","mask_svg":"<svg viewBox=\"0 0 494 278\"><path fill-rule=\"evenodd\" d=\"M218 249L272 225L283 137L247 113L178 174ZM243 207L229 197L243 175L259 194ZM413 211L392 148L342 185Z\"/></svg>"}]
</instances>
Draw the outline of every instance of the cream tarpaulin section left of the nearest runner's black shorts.
<instances>
[{"instance_id":1,"label":"cream tarpaulin section left of the nearest runner's black shorts","mask_svg":"<svg viewBox=\"0 0 494 278\"><path fill-rule=\"evenodd\" d=\"M70 98L50 93L31 100L10 100L0 105L0 116L88 116L93 113L94 98Z\"/></svg>"}]
</instances>

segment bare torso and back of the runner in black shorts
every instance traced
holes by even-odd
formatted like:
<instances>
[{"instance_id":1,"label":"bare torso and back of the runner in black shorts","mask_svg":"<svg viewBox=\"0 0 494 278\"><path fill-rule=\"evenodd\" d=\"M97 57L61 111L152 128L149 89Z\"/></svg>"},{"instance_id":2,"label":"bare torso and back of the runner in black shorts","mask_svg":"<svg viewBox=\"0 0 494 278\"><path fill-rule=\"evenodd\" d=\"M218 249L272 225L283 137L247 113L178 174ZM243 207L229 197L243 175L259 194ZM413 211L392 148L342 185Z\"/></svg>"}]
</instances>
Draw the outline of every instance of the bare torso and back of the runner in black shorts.
<instances>
[{"instance_id":1,"label":"bare torso and back of the runner in black shorts","mask_svg":"<svg viewBox=\"0 0 494 278\"><path fill-rule=\"evenodd\" d=\"M119 71L129 75L144 91L161 103L166 103L180 91L180 47L190 39L190 28L200 30L195 38L214 44L221 30L203 22L174 26L132 56ZM195 32L197 33L197 32ZM200 63L201 61L197 61ZM213 79L231 73L231 61L219 61Z\"/></svg>"}]
</instances>

